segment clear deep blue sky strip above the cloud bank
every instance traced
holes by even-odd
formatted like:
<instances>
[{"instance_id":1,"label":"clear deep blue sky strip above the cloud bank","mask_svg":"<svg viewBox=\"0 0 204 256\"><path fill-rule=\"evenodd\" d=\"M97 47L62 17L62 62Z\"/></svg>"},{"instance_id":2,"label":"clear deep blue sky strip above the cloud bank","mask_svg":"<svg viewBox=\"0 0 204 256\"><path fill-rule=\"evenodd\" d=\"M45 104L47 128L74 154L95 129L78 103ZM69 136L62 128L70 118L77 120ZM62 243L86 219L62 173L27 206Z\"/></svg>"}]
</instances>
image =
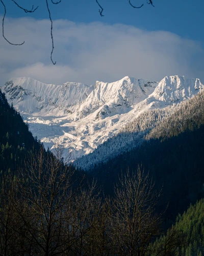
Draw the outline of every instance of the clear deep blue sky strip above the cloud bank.
<instances>
[{"instance_id":1,"label":"clear deep blue sky strip above the cloud bank","mask_svg":"<svg viewBox=\"0 0 204 256\"><path fill-rule=\"evenodd\" d=\"M204 2L202 0L153 0L155 8L143 0L132 0L132 4L144 6L132 8L127 0L99 0L104 8L104 17L100 17L95 0L62 0L59 5L50 4L53 19L68 19L73 22L125 24L147 30L166 30L195 40L204 40ZM30 9L35 3L39 6L35 13L26 14L11 1L7 4L10 17L48 18L45 1L18 0L19 5ZM1 8L1 14L3 9ZM204 29L203 29L204 30Z\"/></svg>"}]
</instances>

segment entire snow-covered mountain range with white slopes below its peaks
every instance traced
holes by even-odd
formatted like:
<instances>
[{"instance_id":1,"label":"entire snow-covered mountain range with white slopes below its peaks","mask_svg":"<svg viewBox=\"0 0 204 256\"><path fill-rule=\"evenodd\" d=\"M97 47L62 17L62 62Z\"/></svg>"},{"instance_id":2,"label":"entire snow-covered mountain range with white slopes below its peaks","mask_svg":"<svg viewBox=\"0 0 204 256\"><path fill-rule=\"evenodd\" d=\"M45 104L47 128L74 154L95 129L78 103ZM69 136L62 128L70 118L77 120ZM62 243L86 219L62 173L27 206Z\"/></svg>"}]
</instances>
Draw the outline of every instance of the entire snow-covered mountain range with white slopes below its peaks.
<instances>
[{"instance_id":1,"label":"entire snow-covered mountain range with white slopes below its peaks","mask_svg":"<svg viewBox=\"0 0 204 256\"><path fill-rule=\"evenodd\" d=\"M94 86L74 82L56 86L22 77L10 79L2 91L45 146L59 143L79 157L144 111L177 104L203 88L199 79L180 76L159 83L126 76L112 83L96 81Z\"/></svg>"}]
</instances>

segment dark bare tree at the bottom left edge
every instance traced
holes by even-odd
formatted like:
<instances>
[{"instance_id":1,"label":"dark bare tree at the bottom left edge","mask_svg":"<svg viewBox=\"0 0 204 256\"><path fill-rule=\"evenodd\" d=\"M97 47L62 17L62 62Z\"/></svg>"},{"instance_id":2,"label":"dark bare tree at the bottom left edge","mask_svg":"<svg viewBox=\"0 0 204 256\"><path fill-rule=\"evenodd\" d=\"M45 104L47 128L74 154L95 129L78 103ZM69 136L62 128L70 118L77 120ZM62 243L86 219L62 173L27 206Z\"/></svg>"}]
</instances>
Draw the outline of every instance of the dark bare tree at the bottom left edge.
<instances>
[{"instance_id":1,"label":"dark bare tree at the bottom left edge","mask_svg":"<svg viewBox=\"0 0 204 256\"><path fill-rule=\"evenodd\" d=\"M0 254L1 255L24 255L31 251L31 239L24 223L19 218L18 212L27 219L27 205L22 204L18 197L17 180L12 176L5 176L1 180L0 195Z\"/></svg>"}]
</instances>

